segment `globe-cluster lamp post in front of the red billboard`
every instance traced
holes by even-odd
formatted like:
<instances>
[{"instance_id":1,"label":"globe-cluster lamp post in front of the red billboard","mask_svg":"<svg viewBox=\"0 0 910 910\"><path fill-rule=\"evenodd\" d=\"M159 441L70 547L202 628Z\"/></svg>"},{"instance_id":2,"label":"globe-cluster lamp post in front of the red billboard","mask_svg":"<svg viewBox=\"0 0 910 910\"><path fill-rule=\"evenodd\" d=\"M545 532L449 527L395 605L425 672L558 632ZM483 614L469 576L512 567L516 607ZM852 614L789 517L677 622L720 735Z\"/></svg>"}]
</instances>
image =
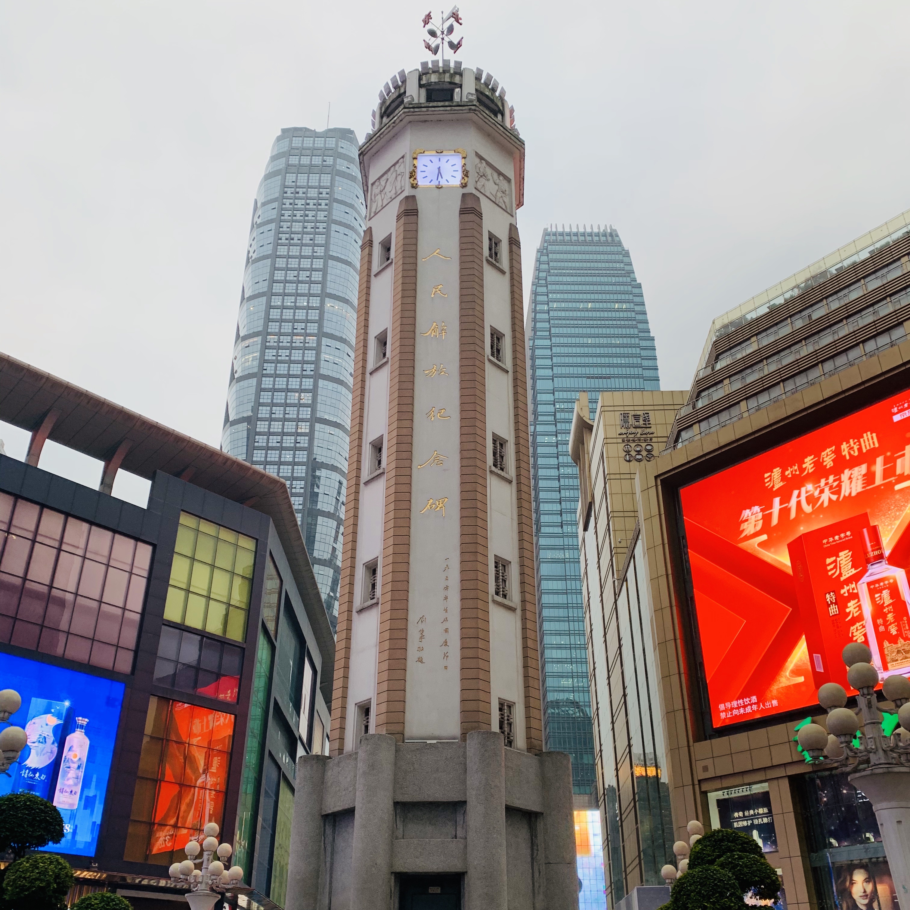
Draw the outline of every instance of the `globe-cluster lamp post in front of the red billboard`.
<instances>
[{"instance_id":1,"label":"globe-cluster lamp post in front of the red billboard","mask_svg":"<svg viewBox=\"0 0 910 910\"><path fill-rule=\"evenodd\" d=\"M850 783L868 797L898 898L901 905L910 905L910 680L889 676L882 686L885 699L895 703L900 723L886 736L875 694L879 676L871 663L872 652L854 642L844 648L843 656L847 681L859 693L857 707L846 707L843 686L825 682L818 690L818 702L828 713L828 728L807 723L797 739L814 762L848 772ZM859 744L854 745L861 726Z\"/></svg>"}]
</instances>

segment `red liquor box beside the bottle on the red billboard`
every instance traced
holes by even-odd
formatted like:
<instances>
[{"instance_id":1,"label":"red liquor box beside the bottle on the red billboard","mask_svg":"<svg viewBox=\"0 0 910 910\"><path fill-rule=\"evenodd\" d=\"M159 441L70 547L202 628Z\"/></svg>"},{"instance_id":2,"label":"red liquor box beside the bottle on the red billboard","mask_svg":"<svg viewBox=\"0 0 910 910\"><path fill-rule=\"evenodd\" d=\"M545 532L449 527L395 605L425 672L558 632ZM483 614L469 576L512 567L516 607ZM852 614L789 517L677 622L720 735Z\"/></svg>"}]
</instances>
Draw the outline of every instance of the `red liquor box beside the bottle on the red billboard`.
<instances>
[{"instance_id":1,"label":"red liquor box beside the bottle on the red billboard","mask_svg":"<svg viewBox=\"0 0 910 910\"><path fill-rule=\"evenodd\" d=\"M869 516L861 512L787 544L815 689L839 682L853 691L841 652L844 645L866 639L857 584L865 570L863 531L868 527Z\"/></svg>"}]
</instances>

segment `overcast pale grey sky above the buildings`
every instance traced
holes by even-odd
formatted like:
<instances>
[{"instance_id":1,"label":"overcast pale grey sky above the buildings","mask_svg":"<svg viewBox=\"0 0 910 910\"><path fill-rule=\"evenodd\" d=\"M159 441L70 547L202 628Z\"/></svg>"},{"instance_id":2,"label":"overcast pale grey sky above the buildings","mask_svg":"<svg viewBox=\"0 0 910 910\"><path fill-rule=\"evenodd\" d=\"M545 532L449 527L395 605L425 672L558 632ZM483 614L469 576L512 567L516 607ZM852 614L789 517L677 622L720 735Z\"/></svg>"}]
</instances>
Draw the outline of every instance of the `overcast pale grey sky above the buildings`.
<instances>
[{"instance_id":1,"label":"overcast pale grey sky above the buildings","mask_svg":"<svg viewBox=\"0 0 910 910\"><path fill-rule=\"evenodd\" d=\"M3 0L0 349L218 445L272 139L329 102L362 139L426 11ZM905 0L461 12L527 143L525 297L542 227L612 223L665 389L718 313L910 207Z\"/></svg>"}]
</instances>

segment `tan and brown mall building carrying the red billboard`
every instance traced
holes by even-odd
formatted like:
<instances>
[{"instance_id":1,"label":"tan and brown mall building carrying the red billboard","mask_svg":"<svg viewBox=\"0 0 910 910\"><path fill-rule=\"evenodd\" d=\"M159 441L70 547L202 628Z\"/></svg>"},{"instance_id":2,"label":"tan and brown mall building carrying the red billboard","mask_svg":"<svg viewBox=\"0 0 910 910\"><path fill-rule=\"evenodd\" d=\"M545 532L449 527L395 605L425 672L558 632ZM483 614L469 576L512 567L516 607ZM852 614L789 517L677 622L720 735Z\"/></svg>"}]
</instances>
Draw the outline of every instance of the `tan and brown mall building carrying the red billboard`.
<instances>
[{"instance_id":1,"label":"tan and brown mall building carrying the red billboard","mask_svg":"<svg viewBox=\"0 0 910 910\"><path fill-rule=\"evenodd\" d=\"M897 907L871 805L795 735L847 686L846 643L910 668L907 604L864 596L863 543L877 526L910 569L908 254L905 212L715 319L688 392L605 392L593 420L579 399L612 904L661 884L697 818L762 844L790 910L844 905L860 868Z\"/></svg>"}]
</instances>

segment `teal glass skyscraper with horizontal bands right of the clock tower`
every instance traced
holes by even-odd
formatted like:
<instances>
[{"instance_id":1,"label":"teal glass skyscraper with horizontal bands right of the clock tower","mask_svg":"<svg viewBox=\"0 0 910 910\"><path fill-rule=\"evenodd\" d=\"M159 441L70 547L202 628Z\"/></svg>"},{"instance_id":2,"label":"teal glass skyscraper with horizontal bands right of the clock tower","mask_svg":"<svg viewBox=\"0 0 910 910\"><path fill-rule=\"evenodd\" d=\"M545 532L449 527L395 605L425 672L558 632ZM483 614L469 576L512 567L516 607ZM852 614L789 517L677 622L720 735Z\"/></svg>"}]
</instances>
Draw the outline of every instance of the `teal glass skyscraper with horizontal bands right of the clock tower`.
<instances>
[{"instance_id":1,"label":"teal glass skyscraper with horizontal bands right of the clock tower","mask_svg":"<svg viewBox=\"0 0 910 910\"><path fill-rule=\"evenodd\" d=\"M582 390L596 402L601 390L660 388L642 286L613 227L543 231L527 319L544 737L547 749L571 754L574 792L593 805L572 415Z\"/></svg>"}]
</instances>

